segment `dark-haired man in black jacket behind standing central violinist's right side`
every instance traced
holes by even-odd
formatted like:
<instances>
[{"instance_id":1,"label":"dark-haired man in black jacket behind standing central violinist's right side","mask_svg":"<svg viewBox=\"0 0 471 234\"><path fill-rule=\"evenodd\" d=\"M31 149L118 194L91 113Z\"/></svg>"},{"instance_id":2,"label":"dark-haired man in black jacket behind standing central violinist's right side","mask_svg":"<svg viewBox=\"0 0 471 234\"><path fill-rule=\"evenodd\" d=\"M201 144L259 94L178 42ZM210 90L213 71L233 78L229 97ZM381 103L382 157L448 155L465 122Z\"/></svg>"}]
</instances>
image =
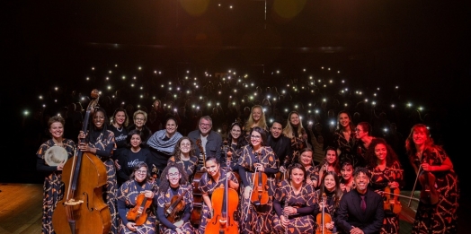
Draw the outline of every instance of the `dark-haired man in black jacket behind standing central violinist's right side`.
<instances>
[{"instance_id":1,"label":"dark-haired man in black jacket behind standing central violinist's right side","mask_svg":"<svg viewBox=\"0 0 471 234\"><path fill-rule=\"evenodd\" d=\"M291 151L291 140L284 136L282 132L283 126L277 121L273 122L267 142L271 149L273 149L273 152L275 152L278 160L280 160L280 171L284 172L291 163L293 152Z\"/></svg>"}]
</instances>

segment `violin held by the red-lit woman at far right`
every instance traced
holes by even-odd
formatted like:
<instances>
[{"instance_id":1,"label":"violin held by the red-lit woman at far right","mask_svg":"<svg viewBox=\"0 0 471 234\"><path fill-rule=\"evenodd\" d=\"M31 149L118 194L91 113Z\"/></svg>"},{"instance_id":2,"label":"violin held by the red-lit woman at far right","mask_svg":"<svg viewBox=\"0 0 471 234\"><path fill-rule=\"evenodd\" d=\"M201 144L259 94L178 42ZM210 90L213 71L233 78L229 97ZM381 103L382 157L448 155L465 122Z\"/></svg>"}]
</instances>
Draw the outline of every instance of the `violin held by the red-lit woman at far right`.
<instances>
[{"instance_id":1,"label":"violin held by the red-lit woman at far right","mask_svg":"<svg viewBox=\"0 0 471 234\"><path fill-rule=\"evenodd\" d=\"M427 153L423 152L422 162L427 162ZM429 163L430 164L430 163ZM419 170L422 169L422 165L419 167ZM439 193L435 188L435 175L430 171L425 171L422 169L420 172L419 181L422 185L421 190L421 202L424 204L438 204L439 203Z\"/></svg>"}]
</instances>

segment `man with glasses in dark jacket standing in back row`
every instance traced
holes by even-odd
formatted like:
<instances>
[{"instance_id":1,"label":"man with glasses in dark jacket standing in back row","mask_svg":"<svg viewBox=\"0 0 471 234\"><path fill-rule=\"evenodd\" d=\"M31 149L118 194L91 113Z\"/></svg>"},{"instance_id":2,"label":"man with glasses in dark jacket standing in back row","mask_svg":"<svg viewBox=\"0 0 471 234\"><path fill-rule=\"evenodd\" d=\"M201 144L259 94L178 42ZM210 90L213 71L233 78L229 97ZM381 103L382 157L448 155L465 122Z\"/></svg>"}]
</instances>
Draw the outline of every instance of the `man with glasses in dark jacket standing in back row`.
<instances>
[{"instance_id":1,"label":"man with glasses in dark jacket standing in back row","mask_svg":"<svg viewBox=\"0 0 471 234\"><path fill-rule=\"evenodd\" d=\"M198 146L195 151L196 155L202 154L205 158L213 156L216 157L221 164L225 164L225 160L221 160L222 137L212 130L212 124L211 117L200 117L198 130L191 131L188 137L191 139L191 142ZM202 166L202 159L200 159L199 167Z\"/></svg>"}]
</instances>

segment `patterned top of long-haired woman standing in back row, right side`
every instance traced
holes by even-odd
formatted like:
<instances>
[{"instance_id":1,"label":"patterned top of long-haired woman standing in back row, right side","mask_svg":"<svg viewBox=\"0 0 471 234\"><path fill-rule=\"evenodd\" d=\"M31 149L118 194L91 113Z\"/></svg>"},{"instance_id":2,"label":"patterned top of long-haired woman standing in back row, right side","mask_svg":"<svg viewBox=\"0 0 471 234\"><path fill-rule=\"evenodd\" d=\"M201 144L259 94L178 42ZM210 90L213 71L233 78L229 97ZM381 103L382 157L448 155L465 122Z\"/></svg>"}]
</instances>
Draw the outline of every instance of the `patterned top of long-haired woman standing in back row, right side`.
<instances>
[{"instance_id":1,"label":"patterned top of long-haired woman standing in back row, right side","mask_svg":"<svg viewBox=\"0 0 471 234\"><path fill-rule=\"evenodd\" d=\"M345 160L350 160L351 165L355 168L357 165L363 163L363 160L359 158L357 153L354 151L355 146L355 137L354 134L350 134L350 139L346 139L341 130L335 130L333 134L333 147L340 150L339 160L340 164Z\"/></svg>"}]
</instances>

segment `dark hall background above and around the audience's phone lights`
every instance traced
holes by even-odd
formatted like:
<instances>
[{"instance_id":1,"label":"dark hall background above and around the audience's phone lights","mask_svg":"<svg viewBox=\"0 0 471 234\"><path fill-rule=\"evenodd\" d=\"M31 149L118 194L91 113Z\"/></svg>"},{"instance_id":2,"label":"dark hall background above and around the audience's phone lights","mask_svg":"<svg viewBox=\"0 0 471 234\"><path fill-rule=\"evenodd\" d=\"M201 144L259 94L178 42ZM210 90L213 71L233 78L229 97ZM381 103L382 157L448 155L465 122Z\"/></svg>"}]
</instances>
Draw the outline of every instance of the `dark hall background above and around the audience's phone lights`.
<instances>
[{"instance_id":1,"label":"dark hall background above and around the audience's phone lights","mask_svg":"<svg viewBox=\"0 0 471 234\"><path fill-rule=\"evenodd\" d=\"M265 85L278 69L296 78L303 67L329 66L364 90L399 85L404 100L440 111L444 147L468 193L467 3L9 1L2 8L2 182L41 183L37 148L22 141L23 110L39 108L37 94L55 85L95 88L84 82L91 66L142 65L167 77L234 68Z\"/></svg>"}]
</instances>

